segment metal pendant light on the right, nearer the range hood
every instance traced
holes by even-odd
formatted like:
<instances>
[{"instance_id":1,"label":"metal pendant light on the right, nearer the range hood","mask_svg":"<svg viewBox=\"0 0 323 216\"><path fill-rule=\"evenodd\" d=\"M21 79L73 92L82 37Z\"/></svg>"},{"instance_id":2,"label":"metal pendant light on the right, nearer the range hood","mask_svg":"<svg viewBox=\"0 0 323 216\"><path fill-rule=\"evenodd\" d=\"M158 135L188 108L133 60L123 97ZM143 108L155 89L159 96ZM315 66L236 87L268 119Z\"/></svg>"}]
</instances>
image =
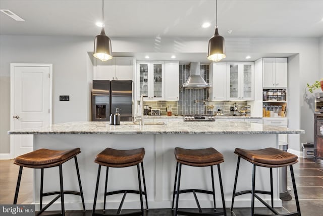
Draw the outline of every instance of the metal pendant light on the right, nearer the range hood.
<instances>
[{"instance_id":1,"label":"metal pendant light on the right, nearer the range hood","mask_svg":"<svg viewBox=\"0 0 323 216\"><path fill-rule=\"evenodd\" d=\"M218 32L218 0L216 3L216 32L208 41L207 59L218 62L226 58L226 49L224 46L224 37Z\"/></svg>"}]
</instances>

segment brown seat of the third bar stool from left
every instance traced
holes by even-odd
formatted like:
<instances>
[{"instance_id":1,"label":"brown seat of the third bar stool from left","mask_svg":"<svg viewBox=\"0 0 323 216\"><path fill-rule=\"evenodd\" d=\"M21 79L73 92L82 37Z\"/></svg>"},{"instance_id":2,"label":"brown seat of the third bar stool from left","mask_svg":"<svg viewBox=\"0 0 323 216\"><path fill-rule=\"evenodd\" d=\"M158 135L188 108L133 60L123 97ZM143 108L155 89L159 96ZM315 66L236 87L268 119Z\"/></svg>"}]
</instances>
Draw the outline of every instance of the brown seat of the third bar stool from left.
<instances>
[{"instance_id":1,"label":"brown seat of the third bar stool from left","mask_svg":"<svg viewBox=\"0 0 323 216\"><path fill-rule=\"evenodd\" d=\"M175 148L176 160L189 166L211 166L224 162L223 155L214 148L183 149Z\"/></svg>"}]
</instances>

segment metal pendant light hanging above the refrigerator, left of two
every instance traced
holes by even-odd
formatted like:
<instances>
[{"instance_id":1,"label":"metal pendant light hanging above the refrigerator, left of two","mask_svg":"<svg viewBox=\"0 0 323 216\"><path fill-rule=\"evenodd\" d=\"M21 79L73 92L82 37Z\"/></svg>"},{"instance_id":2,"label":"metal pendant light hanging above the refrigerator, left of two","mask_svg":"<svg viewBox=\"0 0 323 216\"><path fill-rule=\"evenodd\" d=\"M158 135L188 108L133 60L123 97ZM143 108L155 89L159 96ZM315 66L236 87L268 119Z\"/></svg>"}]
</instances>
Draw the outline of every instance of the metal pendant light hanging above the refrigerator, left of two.
<instances>
[{"instance_id":1,"label":"metal pendant light hanging above the refrigerator, left of two","mask_svg":"<svg viewBox=\"0 0 323 216\"><path fill-rule=\"evenodd\" d=\"M103 22L103 0L102 0L102 29L99 35L96 35L94 39L94 52L93 56L101 61L107 61L112 59L111 40L104 32Z\"/></svg>"}]
</instances>

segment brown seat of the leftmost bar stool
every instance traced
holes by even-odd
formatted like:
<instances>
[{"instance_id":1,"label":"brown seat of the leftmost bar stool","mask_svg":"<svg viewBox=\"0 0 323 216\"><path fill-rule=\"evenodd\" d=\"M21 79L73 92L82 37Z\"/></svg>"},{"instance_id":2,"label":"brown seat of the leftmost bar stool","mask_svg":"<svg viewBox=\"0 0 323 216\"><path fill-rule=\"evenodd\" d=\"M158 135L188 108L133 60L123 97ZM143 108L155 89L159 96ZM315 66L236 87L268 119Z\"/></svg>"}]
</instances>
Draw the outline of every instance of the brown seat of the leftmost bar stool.
<instances>
[{"instance_id":1,"label":"brown seat of the leftmost bar stool","mask_svg":"<svg viewBox=\"0 0 323 216\"><path fill-rule=\"evenodd\" d=\"M80 152L80 148L62 151L38 149L16 157L14 163L31 168L48 168L62 164Z\"/></svg>"}]
</instances>

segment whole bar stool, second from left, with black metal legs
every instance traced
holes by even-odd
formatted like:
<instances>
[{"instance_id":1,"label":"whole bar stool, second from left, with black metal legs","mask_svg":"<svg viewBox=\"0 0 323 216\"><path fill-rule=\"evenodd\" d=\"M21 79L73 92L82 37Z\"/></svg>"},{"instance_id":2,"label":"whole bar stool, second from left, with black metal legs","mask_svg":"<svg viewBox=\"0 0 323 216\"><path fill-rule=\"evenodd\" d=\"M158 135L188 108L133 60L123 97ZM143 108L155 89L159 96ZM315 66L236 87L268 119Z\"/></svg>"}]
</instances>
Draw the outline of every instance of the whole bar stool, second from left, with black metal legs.
<instances>
[{"instance_id":1,"label":"whole bar stool, second from left, with black metal legs","mask_svg":"<svg viewBox=\"0 0 323 216\"><path fill-rule=\"evenodd\" d=\"M117 213L116 214L109 214L109 215L142 215L142 216L144 216L142 195L145 195L146 207L148 210L145 174L143 171L143 163L142 163L144 155L145 155L144 148L132 149L132 150L117 150L117 149L112 149L112 148L106 148L102 152L100 152L98 155L96 155L94 162L98 163L99 167L98 167L98 172L97 172L97 180L96 180L92 215L107 215L104 213L95 212L95 205L96 205L96 198L97 198L97 190L98 190L98 186L99 186L101 166L106 166L103 211L105 211L106 196L123 193L124 195L122 197L122 200L121 200L121 203L120 203L119 208L117 210ZM141 190L139 163L141 164L144 191ZM118 190L118 191L106 192L109 167L128 167L128 166L135 166L135 165L137 165L139 191L138 190ZM122 205L123 205L123 202L126 198L127 193L139 194L141 211L120 214L121 209L122 209Z\"/></svg>"}]
</instances>

